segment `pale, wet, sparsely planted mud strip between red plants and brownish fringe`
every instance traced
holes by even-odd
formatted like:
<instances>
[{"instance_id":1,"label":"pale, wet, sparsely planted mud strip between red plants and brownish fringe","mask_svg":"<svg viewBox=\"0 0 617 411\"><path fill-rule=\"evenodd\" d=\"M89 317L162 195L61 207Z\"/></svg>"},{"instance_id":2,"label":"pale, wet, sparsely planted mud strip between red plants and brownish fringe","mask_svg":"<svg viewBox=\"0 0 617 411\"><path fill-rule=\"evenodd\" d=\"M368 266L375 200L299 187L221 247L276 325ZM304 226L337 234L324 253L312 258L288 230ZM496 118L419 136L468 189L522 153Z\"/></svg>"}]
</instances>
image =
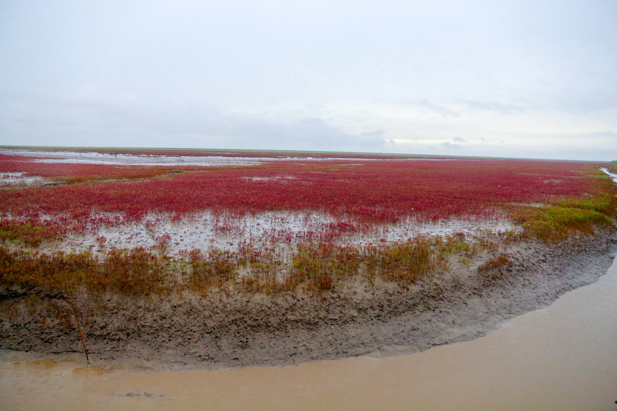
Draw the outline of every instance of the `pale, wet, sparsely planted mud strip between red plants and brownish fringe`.
<instances>
[{"instance_id":1,"label":"pale, wet, sparsely planted mud strip between red plants and brownish fringe","mask_svg":"<svg viewBox=\"0 0 617 411\"><path fill-rule=\"evenodd\" d=\"M497 213L495 213L497 214ZM507 231L520 232L521 227L500 216L498 218L456 219L437 222L419 223L407 219L398 224L375 224L368 229L357 232L347 232L337 239L339 244L358 245L379 243L381 239L387 242L401 242L419 234L434 236L452 235L455 232L463 234L479 234L491 230L495 233ZM323 235L328 231L328 224L336 222L336 218L327 214L317 213L260 213L241 218L218 218L211 213L201 213L199 216L186 217L181 222L171 221L170 215L152 215L146 221L159 221L151 229L144 222L102 227L94 232L72 233L65 235L61 242L51 242L39 250L51 253L62 250L93 250L104 253L113 248L133 248L135 246L153 246L155 236L167 233L173 238L168 246L168 254L177 256L180 250L199 248L207 250L210 246L221 250L237 250L242 242L276 245L282 237L291 238L290 245L308 238L309 235ZM232 227L223 230L221 227ZM97 242L100 235L106 238L106 243ZM274 242L270 239L274 237Z\"/></svg>"}]
</instances>

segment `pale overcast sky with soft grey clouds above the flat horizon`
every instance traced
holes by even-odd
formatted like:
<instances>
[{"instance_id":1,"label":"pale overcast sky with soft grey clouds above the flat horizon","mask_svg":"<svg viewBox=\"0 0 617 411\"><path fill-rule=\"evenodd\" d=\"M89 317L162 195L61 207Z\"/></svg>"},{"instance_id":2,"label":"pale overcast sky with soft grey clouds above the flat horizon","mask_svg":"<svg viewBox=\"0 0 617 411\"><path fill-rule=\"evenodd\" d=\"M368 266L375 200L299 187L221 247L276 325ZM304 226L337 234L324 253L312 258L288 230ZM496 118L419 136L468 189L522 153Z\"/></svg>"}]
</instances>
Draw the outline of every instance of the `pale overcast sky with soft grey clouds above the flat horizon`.
<instances>
[{"instance_id":1,"label":"pale overcast sky with soft grey clouds above the flat horizon","mask_svg":"<svg viewBox=\"0 0 617 411\"><path fill-rule=\"evenodd\" d=\"M617 2L0 2L0 145L617 160Z\"/></svg>"}]
</instances>

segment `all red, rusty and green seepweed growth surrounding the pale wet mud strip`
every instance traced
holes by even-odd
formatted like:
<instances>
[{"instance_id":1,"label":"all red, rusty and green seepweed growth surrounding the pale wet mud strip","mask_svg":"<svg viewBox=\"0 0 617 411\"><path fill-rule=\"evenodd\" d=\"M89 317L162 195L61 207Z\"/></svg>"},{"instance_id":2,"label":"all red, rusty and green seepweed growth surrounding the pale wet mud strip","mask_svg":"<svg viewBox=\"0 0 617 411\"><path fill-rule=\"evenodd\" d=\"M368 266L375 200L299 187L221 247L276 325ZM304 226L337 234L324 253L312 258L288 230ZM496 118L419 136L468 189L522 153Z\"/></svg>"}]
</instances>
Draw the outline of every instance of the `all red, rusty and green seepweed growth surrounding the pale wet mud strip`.
<instances>
[{"instance_id":1,"label":"all red, rusty and green seepweed growth surrounding the pale wet mud strip","mask_svg":"<svg viewBox=\"0 0 617 411\"><path fill-rule=\"evenodd\" d=\"M610 179L581 162L294 160L250 167L191 166L170 174L160 167L75 166L6 157L0 165L7 170L64 181L76 177L70 185L0 190L0 240L8 247L0 253L2 283L64 293L281 293L299 288L321 293L360 277L407 284L434 272L448 253L473 255L490 246L464 235L439 242L384 239L365 246L337 241L373 224L406 218L492 218L499 211L522 224L525 234L559 240L570 232L613 224L616 205ZM135 181L101 181L110 176ZM267 238L280 246L250 243L233 251L186 251L178 261L167 256L168 234L155 236L148 250L111 250L100 259L89 251L36 254L11 249L19 242L38 246L68 232L142 221L151 213L182 221L203 210L238 216L317 211L335 221L306 232L300 242L280 230ZM156 224L155 219L146 221L151 230ZM215 228L242 230L226 222ZM104 244L103 236L97 240Z\"/></svg>"}]
</instances>

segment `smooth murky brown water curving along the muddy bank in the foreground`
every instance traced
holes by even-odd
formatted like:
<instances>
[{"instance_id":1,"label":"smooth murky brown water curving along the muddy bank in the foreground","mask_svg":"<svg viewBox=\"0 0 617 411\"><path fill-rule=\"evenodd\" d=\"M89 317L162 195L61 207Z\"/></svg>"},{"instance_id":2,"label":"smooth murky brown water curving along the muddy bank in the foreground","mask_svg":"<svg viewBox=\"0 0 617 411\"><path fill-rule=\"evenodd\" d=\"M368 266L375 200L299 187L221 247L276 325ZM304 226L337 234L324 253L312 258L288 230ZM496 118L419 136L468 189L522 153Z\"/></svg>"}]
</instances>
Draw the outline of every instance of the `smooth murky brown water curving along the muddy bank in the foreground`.
<instances>
[{"instance_id":1,"label":"smooth murky brown water curving along the muddy bank in the foreground","mask_svg":"<svg viewBox=\"0 0 617 411\"><path fill-rule=\"evenodd\" d=\"M128 394L128 395L127 395ZM129 372L0 367L3 410L617 410L617 264L489 335L418 354L288 367Z\"/></svg>"}]
</instances>

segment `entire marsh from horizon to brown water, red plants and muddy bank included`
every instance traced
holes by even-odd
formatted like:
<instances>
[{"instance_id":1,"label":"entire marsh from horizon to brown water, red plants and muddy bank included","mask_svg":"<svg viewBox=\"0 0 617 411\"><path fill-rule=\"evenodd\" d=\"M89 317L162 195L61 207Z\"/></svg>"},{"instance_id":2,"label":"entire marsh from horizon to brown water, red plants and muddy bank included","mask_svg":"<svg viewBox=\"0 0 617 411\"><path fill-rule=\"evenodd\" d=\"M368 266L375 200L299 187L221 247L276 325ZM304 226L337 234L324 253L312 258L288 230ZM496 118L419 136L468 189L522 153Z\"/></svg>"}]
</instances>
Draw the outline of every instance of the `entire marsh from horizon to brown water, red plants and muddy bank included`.
<instances>
[{"instance_id":1,"label":"entire marsh from horizon to brown water, red plants and muddy bank included","mask_svg":"<svg viewBox=\"0 0 617 411\"><path fill-rule=\"evenodd\" d=\"M0 348L83 351L77 321L96 360L210 367L469 340L605 272L607 167L2 149Z\"/></svg>"}]
</instances>

